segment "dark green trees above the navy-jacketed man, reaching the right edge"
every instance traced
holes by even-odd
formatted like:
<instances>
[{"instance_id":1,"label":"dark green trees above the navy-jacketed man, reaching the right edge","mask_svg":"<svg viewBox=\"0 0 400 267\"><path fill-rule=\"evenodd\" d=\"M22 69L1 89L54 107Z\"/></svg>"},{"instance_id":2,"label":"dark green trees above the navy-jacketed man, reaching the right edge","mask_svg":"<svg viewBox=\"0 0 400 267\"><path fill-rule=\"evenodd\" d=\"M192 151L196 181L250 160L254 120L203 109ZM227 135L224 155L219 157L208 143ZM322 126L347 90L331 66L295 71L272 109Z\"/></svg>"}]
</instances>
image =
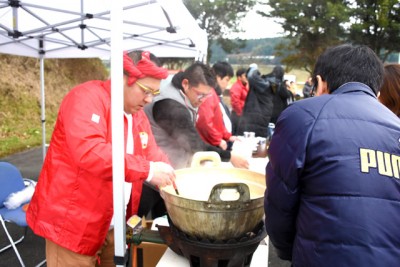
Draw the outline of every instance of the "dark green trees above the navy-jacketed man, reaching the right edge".
<instances>
[{"instance_id":1,"label":"dark green trees above the navy-jacketed man, reaching the right edge","mask_svg":"<svg viewBox=\"0 0 400 267\"><path fill-rule=\"evenodd\" d=\"M278 17L288 42L276 47L288 68L312 72L327 47L339 43L365 44L383 61L400 51L398 0L265 0ZM287 53L289 51L289 53Z\"/></svg>"}]
</instances>

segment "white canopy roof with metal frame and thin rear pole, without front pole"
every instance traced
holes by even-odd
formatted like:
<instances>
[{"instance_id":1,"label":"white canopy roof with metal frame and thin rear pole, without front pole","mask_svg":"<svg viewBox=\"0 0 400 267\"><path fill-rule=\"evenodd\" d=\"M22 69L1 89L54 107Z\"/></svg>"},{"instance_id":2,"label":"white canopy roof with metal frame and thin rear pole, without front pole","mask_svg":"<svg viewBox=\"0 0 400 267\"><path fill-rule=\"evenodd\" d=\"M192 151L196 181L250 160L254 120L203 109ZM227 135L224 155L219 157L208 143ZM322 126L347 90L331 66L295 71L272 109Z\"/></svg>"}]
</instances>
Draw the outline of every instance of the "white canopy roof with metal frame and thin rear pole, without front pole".
<instances>
[{"instance_id":1,"label":"white canopy roof with metal frame and thin rear pole, without front pole","mask_svg":"<svg viewBox=\"0 0 400 267\"><path fill-rule=\"evenodd\" d=\"M42 138L45 148L45 58L109 58L110 1L0 0L0 53L41 59ZM181 0L121 0L123 50L149 50L158 57L204 60L207 34ZM113 7L116 3L113 3Z\"/></svg>"}]
</instances>

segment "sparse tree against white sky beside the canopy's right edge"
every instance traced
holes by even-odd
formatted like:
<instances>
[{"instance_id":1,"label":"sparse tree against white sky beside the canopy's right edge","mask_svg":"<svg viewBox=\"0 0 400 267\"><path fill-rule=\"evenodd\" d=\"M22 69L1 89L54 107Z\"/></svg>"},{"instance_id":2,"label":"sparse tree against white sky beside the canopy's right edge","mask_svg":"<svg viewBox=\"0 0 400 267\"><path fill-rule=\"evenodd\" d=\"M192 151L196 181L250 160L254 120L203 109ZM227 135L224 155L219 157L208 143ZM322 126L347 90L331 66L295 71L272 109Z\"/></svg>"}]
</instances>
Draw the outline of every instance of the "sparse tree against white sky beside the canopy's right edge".
<instances>
[{"instance_id":1,"label":"sparse tree against white sky beside the canopy's right edge","mask_svg":"<svg viewBox=\"0 0 400 267\"><path fill-rule=\"evenodd\" d=\"M230 33L240 32L240 21L257 0L184 0L192 16L208 35L208 60L214 42L227 53L244 46L244 40L230 40Z\"/></svg>"}]
</instances>

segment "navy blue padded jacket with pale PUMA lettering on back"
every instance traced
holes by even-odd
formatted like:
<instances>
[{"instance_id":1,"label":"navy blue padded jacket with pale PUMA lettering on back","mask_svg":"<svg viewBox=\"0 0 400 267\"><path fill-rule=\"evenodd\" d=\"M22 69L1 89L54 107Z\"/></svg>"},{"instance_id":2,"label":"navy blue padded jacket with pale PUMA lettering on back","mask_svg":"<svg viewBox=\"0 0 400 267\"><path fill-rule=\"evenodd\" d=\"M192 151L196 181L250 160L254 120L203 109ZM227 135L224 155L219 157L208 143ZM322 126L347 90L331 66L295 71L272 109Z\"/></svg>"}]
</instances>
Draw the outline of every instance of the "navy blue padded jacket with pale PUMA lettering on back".
<instances>
[{"instance_id":1,"label":"navy blue padded jacket with pale PUMA lettering on back","mask_svg":"<svg viewBox=\"0 0 400 267\"><path fill-rule=\"evenodd\" d=\"M400 264L400 120L348 83L283 111L269 147L266 229L293 266Z\"/></svg>"}]
</instances>

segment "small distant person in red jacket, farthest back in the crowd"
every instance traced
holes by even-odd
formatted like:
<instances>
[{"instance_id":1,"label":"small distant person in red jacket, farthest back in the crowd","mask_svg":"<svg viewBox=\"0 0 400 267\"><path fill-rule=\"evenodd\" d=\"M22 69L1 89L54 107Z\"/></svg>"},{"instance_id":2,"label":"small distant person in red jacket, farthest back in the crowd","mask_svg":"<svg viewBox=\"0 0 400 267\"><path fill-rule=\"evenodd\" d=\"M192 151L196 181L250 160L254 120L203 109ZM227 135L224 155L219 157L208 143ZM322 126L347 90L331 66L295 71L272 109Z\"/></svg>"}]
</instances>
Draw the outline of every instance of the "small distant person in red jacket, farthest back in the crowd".
<instances>
[{"instance_id":1,"label":"small distant person in red jacket, farthest back in the crowd","mask_svg":"<svg viewBox=\"0 0 400 267\"><path fill-rule=\"evenodd\" d=\"M249 92L249 83L246 77L246 69L239 68L236 71L236 82L229 90L231 97L231 120L232 120L232 134L242 135L243 133L237 132L240 116L242 116L244 103L246 102L247 93Z\"/></svg>"}]
</instances>

